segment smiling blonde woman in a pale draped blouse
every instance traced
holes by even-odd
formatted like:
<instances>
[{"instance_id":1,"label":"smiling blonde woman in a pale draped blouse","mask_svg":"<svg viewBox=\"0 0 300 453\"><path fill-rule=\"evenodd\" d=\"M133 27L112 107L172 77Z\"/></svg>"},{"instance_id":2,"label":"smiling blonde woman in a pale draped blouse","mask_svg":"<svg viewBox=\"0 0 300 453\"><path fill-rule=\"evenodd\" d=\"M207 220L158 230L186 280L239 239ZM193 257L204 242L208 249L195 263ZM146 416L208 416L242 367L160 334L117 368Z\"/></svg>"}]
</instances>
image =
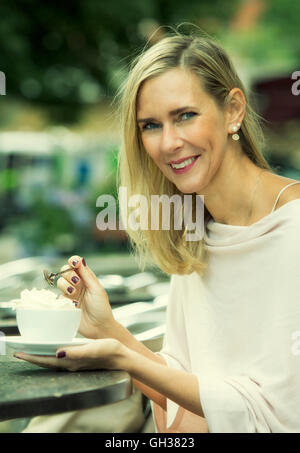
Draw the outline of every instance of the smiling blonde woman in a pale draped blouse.
<instances>
[{"instance_id":1,"label":"smiling blonde woman in a pale draped blouse","mask_svg":"<svg viewBox=\"0 0 300 453\"><path fill-rule=\"evenodd\" d=\"M274 174L224 50L171 36L140 56L122 91L120 183L128 195L204 196L205 231L128 229L140 256L172 274L167 331L152 353L114 320L80 256L58 281L79 299L80 332L99 339L41 366L128 371L159 432L299 432L300 186ZM184 203L183 203L184 204Z\"/></svg>"}]
</instances>

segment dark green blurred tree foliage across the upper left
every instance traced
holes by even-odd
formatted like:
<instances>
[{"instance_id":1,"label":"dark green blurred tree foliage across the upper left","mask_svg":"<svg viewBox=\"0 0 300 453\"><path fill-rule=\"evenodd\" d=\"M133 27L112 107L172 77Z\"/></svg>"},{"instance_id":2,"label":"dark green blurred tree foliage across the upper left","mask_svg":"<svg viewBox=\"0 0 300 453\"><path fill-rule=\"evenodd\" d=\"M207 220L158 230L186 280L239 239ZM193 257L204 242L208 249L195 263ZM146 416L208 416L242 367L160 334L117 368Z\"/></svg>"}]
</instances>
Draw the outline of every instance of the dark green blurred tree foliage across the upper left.
<instances>
[{"instance_id":1,"label":"dark green blurred tree foliage across the upper left","mask_svg":"<svg viewBox=\"0 0 300 453\"><path fill-rule=\"evenodd\" d=\"M110 96L125 66L159 25L192 21L206 31L239 0L14 0L0 3L0 70L7 94L45 105L57 122ZM217 18L217 19L216 19Z\"/></svg>"}]
</instances>

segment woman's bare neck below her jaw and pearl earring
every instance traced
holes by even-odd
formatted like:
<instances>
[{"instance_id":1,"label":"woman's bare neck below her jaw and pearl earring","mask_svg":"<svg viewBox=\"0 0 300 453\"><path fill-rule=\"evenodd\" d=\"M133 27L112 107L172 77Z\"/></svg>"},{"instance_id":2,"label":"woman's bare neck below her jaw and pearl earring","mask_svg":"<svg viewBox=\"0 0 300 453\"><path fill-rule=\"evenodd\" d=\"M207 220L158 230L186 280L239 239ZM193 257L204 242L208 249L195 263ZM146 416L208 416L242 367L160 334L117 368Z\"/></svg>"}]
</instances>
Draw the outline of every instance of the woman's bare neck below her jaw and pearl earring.
<instances>
[{"instance_id":1,"label":"woman's bare neck below her jaw and pearl earring","mask_svg":"<svg viewBox=\"0 0 300 453\"><path fill-rule=\"evenodd\" d=\"M202 193L205 206L215 222L240 226L251 224L261 207L258 195L262 175L262 169L246 155L229 152Z\"/></svg>"}]
</instances>

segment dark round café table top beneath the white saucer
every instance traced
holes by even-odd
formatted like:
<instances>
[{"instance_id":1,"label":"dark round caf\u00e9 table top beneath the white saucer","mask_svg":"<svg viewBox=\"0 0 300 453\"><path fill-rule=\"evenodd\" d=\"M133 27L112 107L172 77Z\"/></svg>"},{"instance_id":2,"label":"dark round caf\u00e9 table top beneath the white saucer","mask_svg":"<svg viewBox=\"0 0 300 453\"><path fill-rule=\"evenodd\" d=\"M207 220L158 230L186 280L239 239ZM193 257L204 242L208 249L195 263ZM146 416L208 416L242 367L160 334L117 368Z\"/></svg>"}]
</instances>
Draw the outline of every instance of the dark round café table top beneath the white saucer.
<instances>
[{"instance_id":1,"label":"dark round caf\u00e9 table top beneath the white saucer","mask_svg":"<svg viewBox=\"0 0 300 453\"><path fill-rule=\"evenodd\" d=\"M126 371L56 371L0 355L0 421L89 409L131 393Z\"/></svg>"}]
</instances>

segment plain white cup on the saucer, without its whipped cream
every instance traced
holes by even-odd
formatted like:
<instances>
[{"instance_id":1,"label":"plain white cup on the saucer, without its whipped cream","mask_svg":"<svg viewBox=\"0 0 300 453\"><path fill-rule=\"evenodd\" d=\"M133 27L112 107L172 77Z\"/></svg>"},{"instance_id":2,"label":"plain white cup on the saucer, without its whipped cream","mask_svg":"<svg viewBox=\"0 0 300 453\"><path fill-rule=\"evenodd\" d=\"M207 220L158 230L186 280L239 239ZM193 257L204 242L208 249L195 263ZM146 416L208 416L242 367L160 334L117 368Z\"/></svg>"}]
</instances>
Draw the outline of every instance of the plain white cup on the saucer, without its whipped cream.
<instances>
[{"instance_id":1,"label":"plain white cup on the saucer, without its whipped cream","mask_svg":"<svg viewBox=\"0 0 300 453\"><path fill-rule=\"evenodd\" d=\"M81 310L16 308L16 318L26 341L70 342L77 334Z\"/></svg>"}]
</instances>

